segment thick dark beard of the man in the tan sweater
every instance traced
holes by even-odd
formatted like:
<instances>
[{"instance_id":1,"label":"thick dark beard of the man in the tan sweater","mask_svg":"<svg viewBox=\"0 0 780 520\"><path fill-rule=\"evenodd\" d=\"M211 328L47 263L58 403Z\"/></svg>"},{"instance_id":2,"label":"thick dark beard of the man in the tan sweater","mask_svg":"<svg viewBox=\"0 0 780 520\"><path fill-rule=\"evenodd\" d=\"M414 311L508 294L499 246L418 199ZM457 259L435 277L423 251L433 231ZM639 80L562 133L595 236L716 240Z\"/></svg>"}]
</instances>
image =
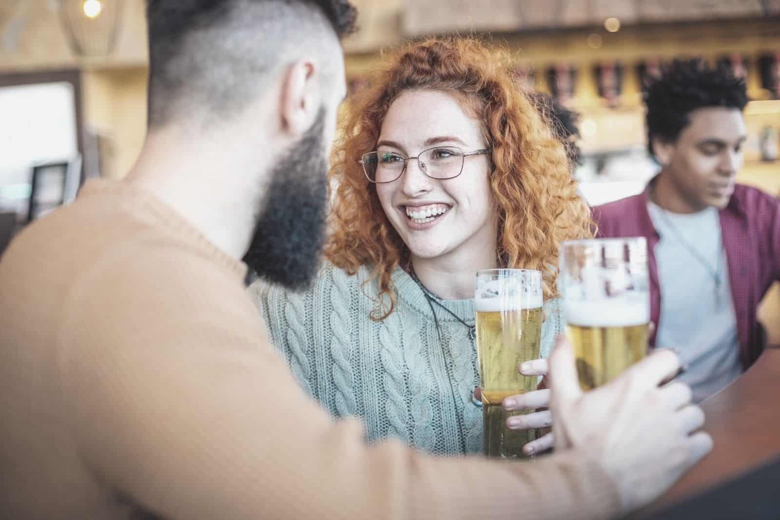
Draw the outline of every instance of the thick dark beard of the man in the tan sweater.
<instances>
[{"instance_id":1,"label":"thick dark beard of the man in the tan sweater","mask_svg":"<svg viewBox=\"0 0 780 520\"><path fill-rule=\"evenodd\" d=\"M289 289L308 286L320 263L328 206L324 110L271 171L244 255L257 276Z\"/></svg>"}]
</instances>

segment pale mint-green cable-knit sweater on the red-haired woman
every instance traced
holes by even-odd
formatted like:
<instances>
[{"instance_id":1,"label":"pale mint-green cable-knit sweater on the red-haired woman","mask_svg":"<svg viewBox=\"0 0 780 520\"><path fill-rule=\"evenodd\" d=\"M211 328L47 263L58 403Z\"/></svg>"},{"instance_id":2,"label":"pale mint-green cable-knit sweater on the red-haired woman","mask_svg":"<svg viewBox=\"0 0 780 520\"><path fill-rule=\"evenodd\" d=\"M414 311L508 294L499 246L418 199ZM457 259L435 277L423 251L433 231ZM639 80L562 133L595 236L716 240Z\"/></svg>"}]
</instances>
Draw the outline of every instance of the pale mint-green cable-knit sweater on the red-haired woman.
<instances>
[{"instance_id":1,"label":"pale mint-green cable-knit sweater on the red-haired woman","mask_svg":"<svg viewBox=\"0 0 780 520\"><path fill-rule=\"evenodd\" d=\"M361 290L370 272L349 276L324 262L303 293L262 281L250 293L300 385L333 416L359 416L368 441L397 437L436 455L480 452L482 413L471 402L477 349L468 329L434 305L440 343L424 293L400 268L392 273L395 311L372 321L366 293L376 297L378 283ZM473 299L442 303L473 325ZM544 309L541 356L548 357L564 321L557 299Z\"/></svg>"}]
</instances>

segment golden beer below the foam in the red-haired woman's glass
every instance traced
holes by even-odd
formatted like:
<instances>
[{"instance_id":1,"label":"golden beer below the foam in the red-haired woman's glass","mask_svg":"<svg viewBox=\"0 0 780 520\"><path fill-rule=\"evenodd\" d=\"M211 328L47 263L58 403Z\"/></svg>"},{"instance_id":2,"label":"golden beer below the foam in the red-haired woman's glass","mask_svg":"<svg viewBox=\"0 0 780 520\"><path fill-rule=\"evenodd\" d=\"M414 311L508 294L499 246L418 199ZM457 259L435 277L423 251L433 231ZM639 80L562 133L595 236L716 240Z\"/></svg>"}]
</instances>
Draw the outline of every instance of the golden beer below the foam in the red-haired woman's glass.
<instances>
[{"instance_id":1,"label":"golden beer below the foam in the red-haired woman's glass","mask_svg":"<svg viewBox=\"0 0 780 520\"><path fill-rule=\"evenodd\" d=\"M541 300L541 296L539 297ZM506 420L523 412L507 412L502 400L509 395L536 390L538 377L518 372L523 361L539 357L543 311L534 308L498 310L492 300L477 300L477 357L482 388L483 448L485 455L501 459L525 457L523 445L537 437L537 430L510 430Z\"/></svg>"}]
</instances>

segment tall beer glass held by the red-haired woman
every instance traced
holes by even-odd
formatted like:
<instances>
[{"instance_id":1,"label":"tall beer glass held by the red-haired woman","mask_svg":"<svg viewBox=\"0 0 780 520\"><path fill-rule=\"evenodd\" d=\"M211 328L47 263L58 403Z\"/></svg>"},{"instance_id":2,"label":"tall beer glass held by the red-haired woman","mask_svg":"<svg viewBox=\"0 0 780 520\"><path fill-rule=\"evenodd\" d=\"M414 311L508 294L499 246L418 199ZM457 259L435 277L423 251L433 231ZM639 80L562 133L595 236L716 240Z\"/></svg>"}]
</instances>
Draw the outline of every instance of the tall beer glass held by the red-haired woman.
<instances>
[{"instance_id":1,"label":"tall beer glass held by the red-haired woman","mask_svg":"<svg viewBox=\"0 0 780 520\"><path fill-rule=\"evenodd\" d=\"M489 269L477 272L477 357L482 388L484 454L499 459L526 458L523 444L537 430L510 430L501 402L509 395L537 389L539 378L518 372L523 361L539 357L541 341L541 272L528 269Z\"/></svg>"}]
</instances>

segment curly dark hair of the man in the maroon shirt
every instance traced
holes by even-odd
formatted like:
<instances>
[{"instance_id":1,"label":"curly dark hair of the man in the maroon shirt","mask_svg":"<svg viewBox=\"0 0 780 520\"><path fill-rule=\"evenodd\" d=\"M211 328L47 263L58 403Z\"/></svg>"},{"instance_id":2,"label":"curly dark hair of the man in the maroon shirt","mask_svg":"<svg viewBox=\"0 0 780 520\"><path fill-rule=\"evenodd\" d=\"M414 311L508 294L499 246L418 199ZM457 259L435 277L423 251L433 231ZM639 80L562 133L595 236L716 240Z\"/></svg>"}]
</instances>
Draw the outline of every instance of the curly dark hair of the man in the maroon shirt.
<instances>
[{"instance_id":1,"label":"curly dark hair of the man in the maroon shirt","mask_svg":"<svg viewBox=\"0 0 780 520\"><path fill-rule=\"evenodd\" d=\"M658 78L644 86L647 106L647 149L654 156L653 139L675 142L698 108L743 110L747 104L744 79L724 66L711 68L701 58L675 60Z\"/></svg>"}]
</instances>

